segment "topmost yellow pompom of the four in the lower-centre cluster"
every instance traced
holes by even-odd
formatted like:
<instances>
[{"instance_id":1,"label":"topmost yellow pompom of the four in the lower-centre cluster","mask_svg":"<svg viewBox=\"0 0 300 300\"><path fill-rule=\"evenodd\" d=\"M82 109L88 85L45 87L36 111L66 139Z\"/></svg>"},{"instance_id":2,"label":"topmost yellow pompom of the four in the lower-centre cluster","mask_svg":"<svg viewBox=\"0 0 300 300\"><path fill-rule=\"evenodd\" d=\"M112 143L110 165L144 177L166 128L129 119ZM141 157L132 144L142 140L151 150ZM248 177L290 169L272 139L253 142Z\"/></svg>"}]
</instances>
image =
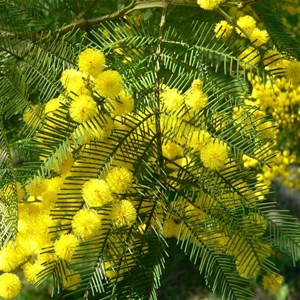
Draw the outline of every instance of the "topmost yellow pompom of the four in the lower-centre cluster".
<instances>
[{"instance_id":1,"label":"topmost yellow pompom of the four in the lower-centre cluster","mask_svg":"<svg viewBox=\"0 0 300 300\"><path fill-rule=\"evenodd\" d=\"M107 174L106 182L113 193L123 194L131 188L133 175L126 168L114 167Z\"/></svg>"}]
</instances>

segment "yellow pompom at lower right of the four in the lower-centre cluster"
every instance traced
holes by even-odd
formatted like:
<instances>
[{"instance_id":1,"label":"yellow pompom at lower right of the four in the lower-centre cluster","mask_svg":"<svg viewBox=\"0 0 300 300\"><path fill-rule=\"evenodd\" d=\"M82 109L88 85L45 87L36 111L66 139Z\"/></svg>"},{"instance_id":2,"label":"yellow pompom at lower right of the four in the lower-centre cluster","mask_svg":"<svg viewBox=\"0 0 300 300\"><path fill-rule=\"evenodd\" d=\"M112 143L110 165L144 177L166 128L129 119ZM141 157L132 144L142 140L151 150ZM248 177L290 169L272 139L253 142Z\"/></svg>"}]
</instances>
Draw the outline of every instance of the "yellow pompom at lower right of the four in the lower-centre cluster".
<instances>
[{"instance_id":1,"label":"yellow pompom at lower right of the four in the lower-centre cluster","mask_svg":"<svg viewBox=\"0 0 300 300\"><path fill-rule=\"evenodd\" d=\"M136 210L128 200L121 200L113 205L111 220L116 227L131 226L136 220Z\"/></svg>"}]
</instances>

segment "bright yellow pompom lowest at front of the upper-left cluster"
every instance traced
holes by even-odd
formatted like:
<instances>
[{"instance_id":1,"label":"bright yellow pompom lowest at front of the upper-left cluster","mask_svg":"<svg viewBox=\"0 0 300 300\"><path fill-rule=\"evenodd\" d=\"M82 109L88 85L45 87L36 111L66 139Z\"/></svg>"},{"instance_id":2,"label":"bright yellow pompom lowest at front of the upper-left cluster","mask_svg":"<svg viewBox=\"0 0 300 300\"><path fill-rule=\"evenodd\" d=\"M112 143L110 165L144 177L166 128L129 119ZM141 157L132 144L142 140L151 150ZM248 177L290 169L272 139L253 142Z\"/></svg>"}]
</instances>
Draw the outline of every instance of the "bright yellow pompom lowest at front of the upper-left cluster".
<instances>
[{"instance_id":1,"label":"bright yellow pompom lowest at front of the upper-left cluster","mask_svg":"<svg viewBox=\"0 0 300 300\"><path fill-rule=\"evenodd\" d=\"M97 114L97 103L88 95L76 97L69 108L70 117L77 123L83 123Z\"/></svg>"}]
</instances>

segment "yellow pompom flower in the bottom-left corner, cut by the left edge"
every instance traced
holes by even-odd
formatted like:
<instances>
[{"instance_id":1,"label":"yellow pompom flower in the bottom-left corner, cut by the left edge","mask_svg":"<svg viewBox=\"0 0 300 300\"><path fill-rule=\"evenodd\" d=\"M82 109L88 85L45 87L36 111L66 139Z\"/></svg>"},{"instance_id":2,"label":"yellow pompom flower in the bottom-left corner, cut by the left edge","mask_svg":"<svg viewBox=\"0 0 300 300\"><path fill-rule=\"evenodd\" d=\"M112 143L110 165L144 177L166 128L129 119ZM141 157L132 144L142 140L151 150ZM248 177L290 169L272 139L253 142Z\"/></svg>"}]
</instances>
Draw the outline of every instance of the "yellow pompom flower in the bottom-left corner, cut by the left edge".
<instances>
[{"instance_id":1,"label":"yellow pompom flower in the bottom-left corner, cut by the left edge","mask_svg":"<svg viewBox=\"0 0 300 300\"><path fill-rule=\"evenodd\" d=\"M12 299L16 297L21 290L21 280L13 273L3 273L0 275L0 297Z\"/></svg>"}]
</instances>

